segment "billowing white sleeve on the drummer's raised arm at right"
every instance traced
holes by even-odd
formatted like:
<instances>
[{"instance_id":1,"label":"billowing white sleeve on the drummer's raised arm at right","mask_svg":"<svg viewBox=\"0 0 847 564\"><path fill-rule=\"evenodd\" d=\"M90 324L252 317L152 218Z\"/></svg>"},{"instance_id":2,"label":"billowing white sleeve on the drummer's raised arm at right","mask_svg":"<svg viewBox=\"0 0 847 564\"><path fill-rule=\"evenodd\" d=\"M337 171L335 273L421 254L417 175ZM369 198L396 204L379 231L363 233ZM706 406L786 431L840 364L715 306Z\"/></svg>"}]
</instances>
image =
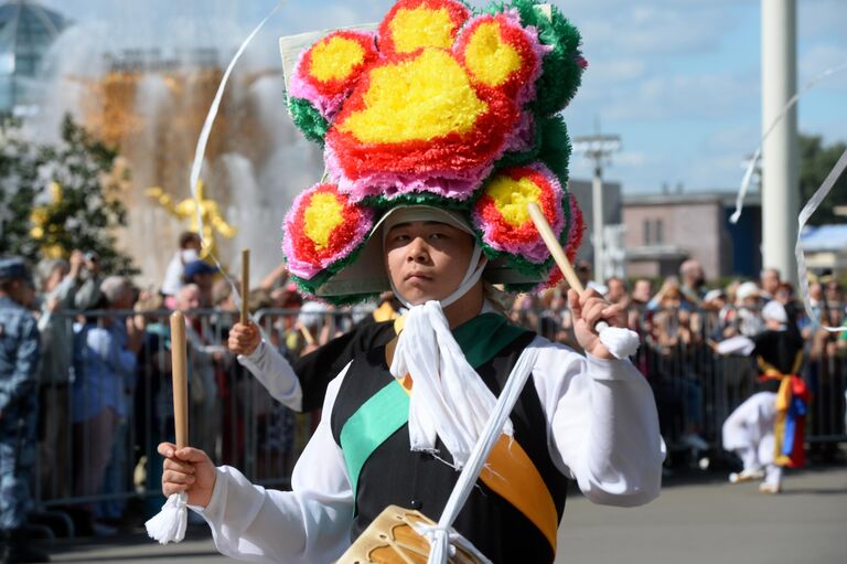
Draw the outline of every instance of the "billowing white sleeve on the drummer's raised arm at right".
<instances>
[{"instance_id":1,"label":"billowing white sleeve on the drummer's raised arm at right","mask_svg":"<svg viewBox=\"0 0 847 564\"><path fill-rule=\"evenodd\" d=\"M582 357L536 338L533 381L557 467L594 503L640 506L658 497L665 447L644 376L629 360Z\"/></svg>"}]
</instances>

